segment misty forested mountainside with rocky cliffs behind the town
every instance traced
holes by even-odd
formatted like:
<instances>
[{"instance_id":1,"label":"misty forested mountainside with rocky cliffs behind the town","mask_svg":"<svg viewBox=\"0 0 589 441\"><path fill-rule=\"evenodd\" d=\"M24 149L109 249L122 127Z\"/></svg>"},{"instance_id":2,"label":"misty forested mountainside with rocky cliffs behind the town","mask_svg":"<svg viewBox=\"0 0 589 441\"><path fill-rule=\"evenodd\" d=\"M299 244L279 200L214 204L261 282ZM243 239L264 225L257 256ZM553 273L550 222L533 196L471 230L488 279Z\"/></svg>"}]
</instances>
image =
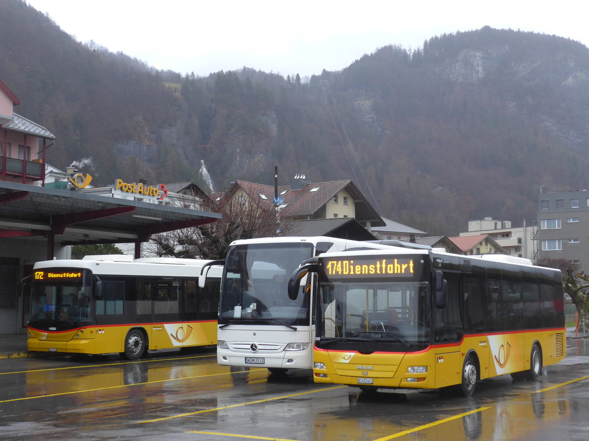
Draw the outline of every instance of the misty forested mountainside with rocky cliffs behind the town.
<instances>
[{"instance_id":1,"label":"misty forested mountainside with rocky cliffs behind the town","mask_svg":"<svg viewBox=\"0 0 589 441\"><path fill-rule=\"evenodd\" d=\"M156 71L81 44L20 0L0 2L0 79L57 136L48 162L99 184L353 179L379 212L432 234L535 218L541 186L585 188L589 49L482 28L386 46L309 81L243 68ZM367 51L373 48L366 48ZM180 83L181 96L165 82Z\"/></svg>"}]
</instances>

